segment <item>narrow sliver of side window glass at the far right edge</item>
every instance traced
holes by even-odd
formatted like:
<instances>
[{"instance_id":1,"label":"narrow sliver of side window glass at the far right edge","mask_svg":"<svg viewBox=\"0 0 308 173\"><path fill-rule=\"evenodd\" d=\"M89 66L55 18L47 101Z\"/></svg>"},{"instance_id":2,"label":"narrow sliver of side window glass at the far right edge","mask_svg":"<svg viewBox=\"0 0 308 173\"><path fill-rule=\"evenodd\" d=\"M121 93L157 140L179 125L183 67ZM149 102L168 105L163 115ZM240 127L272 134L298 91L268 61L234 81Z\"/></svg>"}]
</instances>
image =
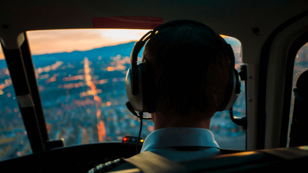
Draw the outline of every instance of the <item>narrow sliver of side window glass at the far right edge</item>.
<instances>
[{"instance_id":1,"label":"narrow sliver of side window glass at the far right edge","mask_svg":"<svg viewBox=\"0 0 308 173\"><path fill-rule=\"evenodd\" d=\"M304 44L298 50L296 54L295 61L294 61L294 68L293 68L292 89L296 87L296 82L298 80L298 77L306 70L308 70L308 42ZM290 143L289 136L290 136L290 130L291 130L292 117L293 117L294 100L295 100L295 96L292 90L287 147L289 147L289 143Z\"/></svg>"}]
</instances>

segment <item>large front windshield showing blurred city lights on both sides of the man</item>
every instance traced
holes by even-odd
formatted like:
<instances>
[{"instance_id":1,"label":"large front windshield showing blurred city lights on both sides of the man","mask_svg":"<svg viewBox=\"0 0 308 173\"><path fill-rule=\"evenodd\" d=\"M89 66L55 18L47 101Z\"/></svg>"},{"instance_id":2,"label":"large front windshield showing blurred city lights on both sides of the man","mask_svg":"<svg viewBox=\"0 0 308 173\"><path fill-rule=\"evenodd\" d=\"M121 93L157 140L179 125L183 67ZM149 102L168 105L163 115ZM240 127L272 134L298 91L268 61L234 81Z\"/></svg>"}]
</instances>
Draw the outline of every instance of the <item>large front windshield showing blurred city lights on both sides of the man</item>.
<instances>
[{"instance_id":1,"label":"large front windshield showing blurred city lights on both sides of the man","mask_svg":"<svg viewBox=\"0 0 308 173\"><path fill-rule=\"evenodd\" d=\"M133 45L149 30L59 29L26 32L35 66L50 139L64 138L67 146L121 141L138 136L140 119L125 106L125 76ZM223 36L241 65L241 43ZM141 61L142 50L138 61ZM245 116L245 86L234 105L234 116ZM145 116L150 114L145 113ZM141 137L154 131L143 121ZM211 130L222 148L245 149L245 132L228 112L217 113ZM230 140L236 146L229 145ZM228 142L226 142L228 141ZM241 145L243 144L243 145Z\"/></svg>"}]
</instances>

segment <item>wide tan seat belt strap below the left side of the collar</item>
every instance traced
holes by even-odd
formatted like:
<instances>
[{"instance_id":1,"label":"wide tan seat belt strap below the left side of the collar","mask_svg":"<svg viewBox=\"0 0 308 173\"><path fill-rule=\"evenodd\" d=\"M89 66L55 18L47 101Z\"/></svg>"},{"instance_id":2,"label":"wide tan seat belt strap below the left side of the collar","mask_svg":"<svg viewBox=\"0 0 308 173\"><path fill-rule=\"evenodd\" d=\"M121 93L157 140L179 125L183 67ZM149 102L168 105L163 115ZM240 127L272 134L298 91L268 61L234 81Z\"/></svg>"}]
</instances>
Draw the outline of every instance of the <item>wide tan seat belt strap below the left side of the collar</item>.
<instances>
[{"instance_id":1,"label":"wide tan seat belt strap below the left side of the collar","mask_svg":"<svg viewBox=\"0 0 308 173\"><path fill-rule=\"evenodd\" d=\"M152 153L151 151L144 151L124 160L138 167L143 173L187 172L186 167L183 165Z\"/></svg>"}]
</instances>

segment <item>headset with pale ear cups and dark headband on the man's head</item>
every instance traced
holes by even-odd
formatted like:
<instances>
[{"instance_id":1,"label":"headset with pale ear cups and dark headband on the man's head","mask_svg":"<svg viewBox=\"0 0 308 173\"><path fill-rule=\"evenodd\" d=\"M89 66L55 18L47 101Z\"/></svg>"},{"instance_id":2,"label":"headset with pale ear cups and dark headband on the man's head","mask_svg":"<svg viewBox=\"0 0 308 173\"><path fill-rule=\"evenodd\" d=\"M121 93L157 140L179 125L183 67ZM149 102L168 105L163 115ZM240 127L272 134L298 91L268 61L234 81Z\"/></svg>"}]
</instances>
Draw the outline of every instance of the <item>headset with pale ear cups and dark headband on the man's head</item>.
<instances>
[{"instance_id":1,"label":"headset with pale ear cups and dark headband on the man's head","mask_svg":"<svg viewBox=\"0 0 308 173\"><path fill-rule=\"evenodd\" d=\"M151 119L142 117L141 113L139 116L136 111L154 113L156 108L156 93L155 88L153 88L153 86L155 86L153 85L153 72L146 67L146 59L144 60L144 62L137 64L138 53L140 52L146 41L148 41L148 39L151 39L151 37L153 37L153 35L157 31L185 24L193 24L197 27L205 27L207 30L213 32L216 35L217 39L220 39L224 44L226 44L227 53L230 58L229 82L227 88L225 89L224 101L218 111L229 110L236 101L238 94L241 92L241 81L237 70L234 68L235 57L231 45L228 44L219 34L215 33L213 29L209 28L201 22L193 20L175 20L157 26L152 31L146 33L139 41L135 43L132 49L131 68L128 69L126 74L125 88L128 97L128 102L126 103L126 105L135 116L141 116L142 119Z\"/></svg>"}]
</instances>

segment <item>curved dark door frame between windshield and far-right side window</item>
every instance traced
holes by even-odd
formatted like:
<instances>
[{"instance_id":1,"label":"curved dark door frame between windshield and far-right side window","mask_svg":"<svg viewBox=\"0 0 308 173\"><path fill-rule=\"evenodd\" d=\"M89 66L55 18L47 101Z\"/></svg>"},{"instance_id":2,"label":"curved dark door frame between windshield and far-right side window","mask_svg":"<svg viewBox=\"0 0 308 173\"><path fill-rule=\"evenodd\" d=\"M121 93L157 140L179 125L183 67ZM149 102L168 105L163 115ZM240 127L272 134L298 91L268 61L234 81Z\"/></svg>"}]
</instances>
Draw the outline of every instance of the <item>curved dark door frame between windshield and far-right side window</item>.
<instances>
[{"instance_id":1,"label":"curved dark door frame between windshield and far-right side window","mask_svg":"<svg viewBox=\"0 0 308 173\"><path fill-rule=\"evenodd\" d=\"M265 149L286 147L290 99L288 99L289 96L285 96L285 93L291 94L291 90L285 86L288 85L286 84L286 77L287 75L293 74L294 65L294 61L292 63L288 61L288 55L290 55L290 50L295 42L308 31L308 11L304 11L286 21L275 31L276 34L274 37L272 36L273 38L268 52L267 70L265 72L266 82L261 81L261 74L259 81L259 86L263 84L263 86L259 88L259 93L262 93L260 91L264 90L265 92L263 92L263 94L266 96L265 98L259 96L258 106L258 116L261 116L262 112L265 116ZM263 48L265 49L265 47ZM263 57L263 59L265 58ZM291 63L292 65L291 73L289 72L290 70L288 71L286 68L288 65L287 63ZM265 75L265 70L262 69L262 67L260 67L260 73L261 71L263 71L263 75ZM287 72L290 74L287 74ZM263 77L263 80L264 79ZM290 84L292 84L292 81ZM264 108L263 111L262 108Z\"/></svg>"}]
</instances>

